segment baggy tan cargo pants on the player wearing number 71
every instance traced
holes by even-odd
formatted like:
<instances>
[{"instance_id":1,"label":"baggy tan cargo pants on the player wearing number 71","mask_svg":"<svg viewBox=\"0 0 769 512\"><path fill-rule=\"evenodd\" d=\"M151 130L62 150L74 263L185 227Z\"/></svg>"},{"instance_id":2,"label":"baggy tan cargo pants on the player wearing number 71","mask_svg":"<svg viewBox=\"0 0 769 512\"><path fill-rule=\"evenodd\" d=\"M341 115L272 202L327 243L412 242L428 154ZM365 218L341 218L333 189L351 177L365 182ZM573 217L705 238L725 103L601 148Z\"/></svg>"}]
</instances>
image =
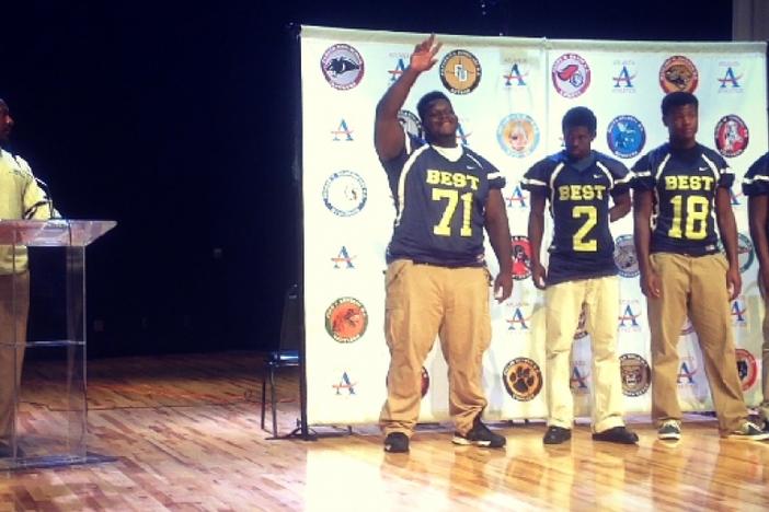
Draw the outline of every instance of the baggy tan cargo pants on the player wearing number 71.
<instances>
[{"instance_id":1,"label":"baggy tan cargo pants on the player wearing number 71","mask_svg":"<svg viewBox=\"0 0 769 512\"><path fill-rule=\"evenodd\" d=\"M422 365L436 336L448 363L449 414L466 434L486 407L483 352L491 342L489 271L399 259L388 266L384 334L390 348L384 434L411 435L420 416Z\"/></svg>"}]
</instances>

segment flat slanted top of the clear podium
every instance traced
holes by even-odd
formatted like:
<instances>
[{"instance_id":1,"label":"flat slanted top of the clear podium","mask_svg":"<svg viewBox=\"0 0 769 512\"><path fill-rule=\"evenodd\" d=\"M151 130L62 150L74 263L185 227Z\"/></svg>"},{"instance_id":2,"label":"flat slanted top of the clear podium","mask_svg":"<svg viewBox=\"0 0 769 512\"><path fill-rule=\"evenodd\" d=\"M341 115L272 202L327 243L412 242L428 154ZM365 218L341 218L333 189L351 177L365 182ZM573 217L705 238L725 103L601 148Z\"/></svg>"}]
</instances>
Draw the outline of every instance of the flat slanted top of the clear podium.
<instances>
[{"instance_id":1,"label":"flat slanted top of the clear podium","mask_svg":"<svg viewBox=\"0 0 769 512\"><path fill-rule=\"evenodd\" d=\"M0 245L83 247L115 225L104 220L0 220Z\"/></svg>"}]
</instances>

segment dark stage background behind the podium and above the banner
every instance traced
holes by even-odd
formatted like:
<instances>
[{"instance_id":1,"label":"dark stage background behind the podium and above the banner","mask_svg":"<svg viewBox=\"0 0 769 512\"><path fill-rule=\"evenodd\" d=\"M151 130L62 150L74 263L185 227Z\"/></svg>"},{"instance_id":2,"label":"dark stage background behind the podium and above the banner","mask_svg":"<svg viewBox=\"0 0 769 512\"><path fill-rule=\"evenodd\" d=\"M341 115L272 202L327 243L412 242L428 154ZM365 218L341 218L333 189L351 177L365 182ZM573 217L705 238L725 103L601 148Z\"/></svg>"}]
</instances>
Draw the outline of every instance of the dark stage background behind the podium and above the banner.
<instances>
[{"instance_id":1,"label":"dark stage background behind the podium and above the banner","mask_svg":"<svg viewBox=\"0 0 769 512\"><path fill-rule=\"evenodd\" d=\"M89 249L91 357L276 345L299 275L289 23L665 40L732 27L728 0L196 3L0 11L13 149L66 217L118 222ZM33 302L33 333L56 319L47 302Z\"/></svg>"}]
</instances>

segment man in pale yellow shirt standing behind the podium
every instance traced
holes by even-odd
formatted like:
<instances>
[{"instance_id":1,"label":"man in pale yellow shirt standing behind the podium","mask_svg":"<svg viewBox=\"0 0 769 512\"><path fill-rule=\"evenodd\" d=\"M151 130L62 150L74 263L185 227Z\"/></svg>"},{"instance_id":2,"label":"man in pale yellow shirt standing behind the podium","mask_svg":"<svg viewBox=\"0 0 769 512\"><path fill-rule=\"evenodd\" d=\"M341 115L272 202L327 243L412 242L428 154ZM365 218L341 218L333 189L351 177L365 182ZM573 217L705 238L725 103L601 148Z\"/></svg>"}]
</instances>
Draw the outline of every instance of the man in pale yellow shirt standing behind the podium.
<instances>
[{"instance_id":1,"label":"man in pale yellow shirt standing behind the podium","mask_svg":"<svg viewBox=\"0 0 769 512\"><path fill-rule=\"evenodd\" d=\"M53 205L30 164L8 147L13 118L0 98L0 219L50 219ZM26 247L0 245L0 457L11 453L14 391L20 384L30 311ZM14 382L15 380L15 382ZM19 452L15 454L19 456Z\"/></svg>"}]
</instances>

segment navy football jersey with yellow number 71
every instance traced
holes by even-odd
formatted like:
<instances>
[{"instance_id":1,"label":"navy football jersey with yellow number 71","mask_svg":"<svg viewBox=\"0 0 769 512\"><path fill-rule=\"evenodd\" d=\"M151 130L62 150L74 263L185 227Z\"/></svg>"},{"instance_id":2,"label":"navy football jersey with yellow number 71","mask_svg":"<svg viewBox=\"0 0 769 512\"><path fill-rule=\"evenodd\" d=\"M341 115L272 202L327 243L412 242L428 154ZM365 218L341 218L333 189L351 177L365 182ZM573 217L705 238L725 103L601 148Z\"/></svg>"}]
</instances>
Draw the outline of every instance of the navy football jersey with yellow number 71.
<instances>
[{"instance_id":1,"label":"navy football jersey with yellow number 71","mask_svg":"<svg viewBox=\"0 0 769 512\"><path fill-rule=\"evenodd\" d=\"M486 199L490 188L505 186L496 167L468 148L436 149L411 136L401 154L382 165L397 211L388 263L485 265Z\"/></svg>"}]
</instances>

